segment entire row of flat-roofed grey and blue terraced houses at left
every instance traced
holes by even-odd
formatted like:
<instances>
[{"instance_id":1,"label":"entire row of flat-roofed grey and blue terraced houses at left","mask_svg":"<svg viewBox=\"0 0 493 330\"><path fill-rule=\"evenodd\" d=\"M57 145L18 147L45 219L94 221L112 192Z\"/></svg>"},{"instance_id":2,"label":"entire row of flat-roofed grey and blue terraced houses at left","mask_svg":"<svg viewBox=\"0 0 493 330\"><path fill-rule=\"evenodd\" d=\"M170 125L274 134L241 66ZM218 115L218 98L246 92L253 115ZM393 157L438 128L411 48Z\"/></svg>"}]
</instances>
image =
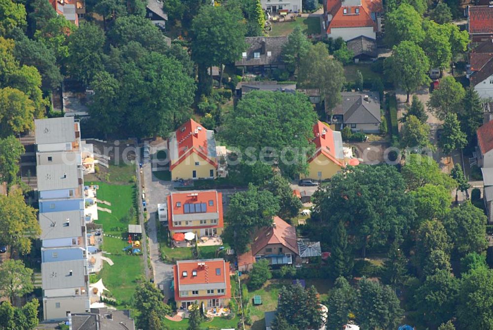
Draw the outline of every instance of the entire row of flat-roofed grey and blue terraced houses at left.
<instances>
[{"instance_id":1,"label":"entire row of flat-roofed grey and blue terraced houses at left","mask_svg":"<svg viewBox=\"0 0 493 330\"><path fill-rule=\"evenodd\" d=\"M84 177L79 122L36 119L44 320L90 309Z\"/></svg>"}]
</instances>

